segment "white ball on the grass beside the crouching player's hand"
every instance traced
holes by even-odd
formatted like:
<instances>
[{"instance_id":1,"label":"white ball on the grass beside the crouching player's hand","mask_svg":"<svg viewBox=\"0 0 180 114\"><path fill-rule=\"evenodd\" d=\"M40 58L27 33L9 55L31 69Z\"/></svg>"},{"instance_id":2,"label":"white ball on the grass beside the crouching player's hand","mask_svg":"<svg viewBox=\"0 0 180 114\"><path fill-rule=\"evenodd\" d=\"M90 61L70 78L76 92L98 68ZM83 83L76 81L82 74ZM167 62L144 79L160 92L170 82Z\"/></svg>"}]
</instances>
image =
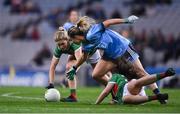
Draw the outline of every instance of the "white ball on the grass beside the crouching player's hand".
<instances>
[{"instance_id":1,"label":"white ball on the grass beside the crouching player's hand","mask_svg":"<svg viewBox=\"0 0 180 114\"><path fill-rule=\"evenodd\" d=\"M51 88L45 92L44 98L48 102L57 102L60 101L61 95L57 89Z\"/></svg>"}]
</instances>

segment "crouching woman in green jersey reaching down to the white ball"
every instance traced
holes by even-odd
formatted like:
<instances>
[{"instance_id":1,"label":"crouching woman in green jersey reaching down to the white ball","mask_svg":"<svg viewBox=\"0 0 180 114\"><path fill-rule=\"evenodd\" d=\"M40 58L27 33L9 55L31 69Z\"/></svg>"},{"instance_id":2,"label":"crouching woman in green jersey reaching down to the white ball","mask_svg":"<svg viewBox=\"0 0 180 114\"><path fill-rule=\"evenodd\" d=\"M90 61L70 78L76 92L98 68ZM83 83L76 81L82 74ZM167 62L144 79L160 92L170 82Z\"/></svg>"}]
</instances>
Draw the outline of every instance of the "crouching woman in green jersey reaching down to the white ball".
<instances>
[{"instance_id":1,"label":"crouching woman in green jersey reaching down to the white ball","mask_svg":"<svg viewBox=\"0 0 180 114\"><path fill-rule=\"evenodd\" d=\"M68 54L68 62L66 64L66 70L68 71L73 64L76 63L76 60L79 59L81 55L81 46L78 44L74 44L70 41L69 36L67 35L67 31L60 27L59 30L55 33L54 41L56 43L56 47L54 49L53 58L50 65L49 70L49 85L47 89L54 88L54 76L55 76L55 69L57 64L59 63L60 57L62 54ZM100 60L100 54L98 51L93 52L86 61L90 63L91 66L94 68L96 63ZM108 82L108 77L102 77L102 82ZM100 82L100 81L99 81ZM101 82L100 82L101 83ZM104 84L104 83L102 83ZM68 79L68 85L70 88L70 96L67 98L61 99L64 102L77 102L76 96L76 79ZM104 84L105 85L105 84Z\"/></svg>"}]
</instances>

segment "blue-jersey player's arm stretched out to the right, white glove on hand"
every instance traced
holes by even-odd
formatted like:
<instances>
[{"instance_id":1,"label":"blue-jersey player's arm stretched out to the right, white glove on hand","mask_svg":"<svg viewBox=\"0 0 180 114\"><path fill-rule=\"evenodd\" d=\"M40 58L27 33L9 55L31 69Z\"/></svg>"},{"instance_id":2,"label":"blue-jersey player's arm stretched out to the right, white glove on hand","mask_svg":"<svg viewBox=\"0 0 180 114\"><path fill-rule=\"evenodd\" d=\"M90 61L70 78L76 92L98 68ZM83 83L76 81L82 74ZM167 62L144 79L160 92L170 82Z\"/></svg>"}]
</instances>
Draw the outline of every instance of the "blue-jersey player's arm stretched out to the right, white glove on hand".
<instances>
[{"instance_id":1,"label":"blue-jersey player's arm stretched out to the right, white glove on hand","mask_svg":"<svg viewBox=\"0 0 180 114\"><path fill-rule=\"evenodd\" d=\"M103 22L103 25L105 27L109 27L110 25L115 25L115 24L122 24L122 23L134 23L136 20L139 18L137 16L129 16L128 18L125 19L108 19Z\"/></svg>"}]
</instances>

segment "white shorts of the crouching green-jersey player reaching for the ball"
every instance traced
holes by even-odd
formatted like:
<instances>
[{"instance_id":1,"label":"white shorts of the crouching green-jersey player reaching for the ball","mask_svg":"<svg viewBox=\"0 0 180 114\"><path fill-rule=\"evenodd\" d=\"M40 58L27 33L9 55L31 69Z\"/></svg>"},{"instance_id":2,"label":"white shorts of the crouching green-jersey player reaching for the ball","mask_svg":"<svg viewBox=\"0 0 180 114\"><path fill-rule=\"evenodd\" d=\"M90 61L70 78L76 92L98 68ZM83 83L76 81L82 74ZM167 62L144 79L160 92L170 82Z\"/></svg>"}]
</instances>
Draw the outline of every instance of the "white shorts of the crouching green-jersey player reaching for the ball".
<instances>
[{"instance_id":1,"label":"white shorts of the crouching green-jersey player reaching for the ball","mask_svg":"<svg viewBox=\"0 0 180 114\"><path fill-rule=\"evenodd\" d=\"M99 51L98 50L96 50L96 52L93 54L93 55L91 55L87 60L86 60L86 62L87 63L97 63L99 60L101 59L101 56L100 56L100 53L99 53Z\"/></svg>"}]
</instances>

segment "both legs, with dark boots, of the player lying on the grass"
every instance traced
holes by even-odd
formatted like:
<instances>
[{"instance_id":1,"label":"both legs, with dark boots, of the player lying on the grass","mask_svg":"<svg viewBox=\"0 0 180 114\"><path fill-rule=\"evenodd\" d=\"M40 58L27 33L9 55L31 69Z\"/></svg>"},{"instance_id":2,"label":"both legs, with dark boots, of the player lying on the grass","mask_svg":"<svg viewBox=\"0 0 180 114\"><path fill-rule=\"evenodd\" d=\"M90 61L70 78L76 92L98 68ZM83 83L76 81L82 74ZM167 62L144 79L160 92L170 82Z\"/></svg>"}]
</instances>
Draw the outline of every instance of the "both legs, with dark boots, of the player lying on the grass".
<instances>
[{"instance_id":1,"label":"both legs, with dark boots, of the player lying on the grass","mask_svg":"<svg viewBox=\"0 0 180 114\"><path fill-rule=\"evenodd\" d=\"M171 73L171 75L173 75L173 73ZM170 76L170 74L167 75L167 73L161 73L160 75L157 74L157 76L143 77L138 80L132 80L132 81L128 82L128 91L132 95L123 96L122 100L126 104L141 104L141 103L149 102L152 100L159 100L159 101L167 100L168 94L166 94L166 93L165 94L157 94L157 95L153 95L153 96L139 95L140 90L143 86L154 83L155 81L165 78L167 76Z\"/></svg>"}]
</instances>

